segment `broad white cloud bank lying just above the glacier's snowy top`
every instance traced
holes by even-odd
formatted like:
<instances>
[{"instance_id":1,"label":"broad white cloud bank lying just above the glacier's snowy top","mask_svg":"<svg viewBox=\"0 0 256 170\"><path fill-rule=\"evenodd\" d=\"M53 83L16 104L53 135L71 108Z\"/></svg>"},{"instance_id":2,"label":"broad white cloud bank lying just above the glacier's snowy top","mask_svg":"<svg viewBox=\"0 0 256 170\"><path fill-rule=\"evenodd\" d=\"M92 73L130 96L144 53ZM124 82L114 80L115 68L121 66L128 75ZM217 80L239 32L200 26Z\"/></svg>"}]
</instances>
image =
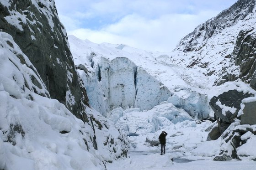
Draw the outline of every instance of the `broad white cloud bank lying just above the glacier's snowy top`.
<instances>
[{"instance_id":1,"label":"broad white cloud bank lying just above the glacier's snowy top","mask_svg":"<svg viewBox=\"0 0 256 170\"><path fill-rule=\"evenodd\" d=\"M213 15L213 11L201 12L198 15L170 14L154 20L139 15L127 15L119 22L98 31L77 29L69 34L96 43L123 43L144 50L168 52L183 36Z\"/></svg>"}]
</instances>

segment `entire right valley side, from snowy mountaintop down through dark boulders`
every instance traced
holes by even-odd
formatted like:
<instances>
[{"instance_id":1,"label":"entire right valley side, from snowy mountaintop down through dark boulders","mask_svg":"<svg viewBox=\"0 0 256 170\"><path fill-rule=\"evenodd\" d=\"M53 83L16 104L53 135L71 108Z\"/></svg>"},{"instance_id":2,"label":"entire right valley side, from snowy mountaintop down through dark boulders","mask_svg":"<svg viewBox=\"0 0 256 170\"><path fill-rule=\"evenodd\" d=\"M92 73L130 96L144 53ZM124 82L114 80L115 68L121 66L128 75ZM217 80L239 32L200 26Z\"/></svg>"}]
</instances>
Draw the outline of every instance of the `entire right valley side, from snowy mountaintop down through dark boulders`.
<instances>
[{"instance_id":1,"label":"entire right valley side, from snowy mountaintop down through dark boulders","mask_svg":"<svg viewBox=\"0 0 256 170\"><path fill-rule=\"evenodd\" d=\"M197 26L171 53L171 62L203 72L219 88L209 102L217 123L208 140L222 143L213 160L255 160L243 150L255 140L255 5L238 0Z\"/></svg>"}]
</instances>

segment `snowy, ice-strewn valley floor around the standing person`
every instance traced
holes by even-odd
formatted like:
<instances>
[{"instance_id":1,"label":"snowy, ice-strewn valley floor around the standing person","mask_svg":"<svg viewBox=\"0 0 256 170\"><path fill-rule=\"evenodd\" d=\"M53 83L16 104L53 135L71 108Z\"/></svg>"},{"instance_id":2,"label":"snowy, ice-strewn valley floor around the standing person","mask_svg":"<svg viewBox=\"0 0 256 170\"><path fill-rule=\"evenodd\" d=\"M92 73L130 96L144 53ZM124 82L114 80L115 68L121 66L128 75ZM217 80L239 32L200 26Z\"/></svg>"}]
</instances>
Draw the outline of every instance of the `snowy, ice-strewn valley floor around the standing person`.
<instances>
[{"instance_id":1,"label":"snowy, ice-strewn valley floor around the standing person","mask_svg":"<svg viewBox=\"0 0 256 170\"><path fill-rule=\"evenodd\" d=\"M129 137L131 149L128 158L107 164L107 170L255 170L256 162L250 160L213 161L219 151L220 141L206 141L211 124L206 121L184 121L164 129L166 154L160 155L160 146L145 142L150 134ZM161 131L161 130L160 130ZM158 131L156 137L160 134ZM172 160L173 161L172 161Z\"/></svg>"}]
</instances>

